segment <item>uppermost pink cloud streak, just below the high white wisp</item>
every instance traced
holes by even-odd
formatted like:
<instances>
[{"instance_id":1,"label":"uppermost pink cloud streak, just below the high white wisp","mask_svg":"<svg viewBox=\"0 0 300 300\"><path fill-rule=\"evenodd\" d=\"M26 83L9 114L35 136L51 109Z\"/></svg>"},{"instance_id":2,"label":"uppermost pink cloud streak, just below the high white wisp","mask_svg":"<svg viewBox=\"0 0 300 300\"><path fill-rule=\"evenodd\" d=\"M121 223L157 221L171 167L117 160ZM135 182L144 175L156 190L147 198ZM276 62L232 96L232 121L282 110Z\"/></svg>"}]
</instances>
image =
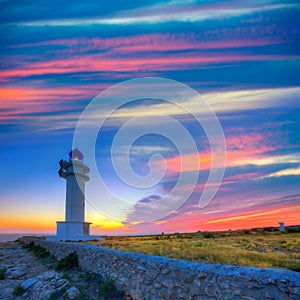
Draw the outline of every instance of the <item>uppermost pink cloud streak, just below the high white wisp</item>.
<instances>
[{"instance_id":1,"label":"uppermost pink cloud streak, just below the high white wisp","mask_svg":"<svg viewBox=\"0 0 300 300\"><path fill-rule=\"evenodd\" d=\"M180 51L201 49L224 49L239 47L259 47L285 42L277 34L270 34L275 27L268 28L266 37L265 27L235 28L207 31L202 34L142 34L114 38L71 38L49 40L38 43L27 43L12 47L37 47L56 45L63 49L47 50L58 54L79 54L91 51L109 50L112 53L134 53L144 51ZM273 32L274 33L274 32ZM247 38L244 38L244 37Z\"/></svg>"}]
</instances>

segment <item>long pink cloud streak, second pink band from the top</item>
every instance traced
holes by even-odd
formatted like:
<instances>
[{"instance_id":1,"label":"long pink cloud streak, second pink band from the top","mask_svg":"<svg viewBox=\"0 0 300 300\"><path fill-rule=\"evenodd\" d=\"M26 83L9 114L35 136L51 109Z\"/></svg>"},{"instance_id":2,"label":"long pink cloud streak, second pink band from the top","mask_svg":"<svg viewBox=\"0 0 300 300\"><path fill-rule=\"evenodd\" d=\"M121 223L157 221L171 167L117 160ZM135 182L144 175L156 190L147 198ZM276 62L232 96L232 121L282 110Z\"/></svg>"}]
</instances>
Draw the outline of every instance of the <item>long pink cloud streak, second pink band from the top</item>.
<instances>
[{"instance_id":1,"label":"long pink cloud streak, second pink band from the top","mask_svg":"<svg viewBox=\"0 0 300 300\"><path fill-rule=\"evenodd\" d=\"M32 75L63 74L77 72L130 72L145 70L178 70L191 69L198 65L211 63L281 60L299 58L289 55L199 55L189 56L172 54L167 57L135 57L135 58L107 58L102 54L81 55L66 59L54 59L48 62L27 62L19 68L0 72L0 81L7 81L8 77L26 77Z\"/></svg>"}]
</instances>

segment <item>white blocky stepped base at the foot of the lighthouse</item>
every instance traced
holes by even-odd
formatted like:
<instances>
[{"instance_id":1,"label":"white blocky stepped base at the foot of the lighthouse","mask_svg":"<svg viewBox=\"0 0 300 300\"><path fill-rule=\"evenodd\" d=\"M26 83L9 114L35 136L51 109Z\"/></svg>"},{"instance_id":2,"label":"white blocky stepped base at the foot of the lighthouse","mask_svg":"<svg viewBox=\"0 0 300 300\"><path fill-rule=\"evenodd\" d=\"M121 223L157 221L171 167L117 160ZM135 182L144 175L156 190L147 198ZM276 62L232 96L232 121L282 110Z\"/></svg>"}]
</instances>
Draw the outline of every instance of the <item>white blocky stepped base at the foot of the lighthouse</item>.
<instances>
[{"instance_id":1,"label":"white blocky stepped base at the foot of the lighthouse","mask_svg":"<svg viewBox=\"0 0 300 300\"><path fill-rule=\"evenodd\" d=\"M90 235L89 222L56 222L56 235L47 236L49 241L91 241L103 240L101 237Z\"/></svg>"}]
</instances>

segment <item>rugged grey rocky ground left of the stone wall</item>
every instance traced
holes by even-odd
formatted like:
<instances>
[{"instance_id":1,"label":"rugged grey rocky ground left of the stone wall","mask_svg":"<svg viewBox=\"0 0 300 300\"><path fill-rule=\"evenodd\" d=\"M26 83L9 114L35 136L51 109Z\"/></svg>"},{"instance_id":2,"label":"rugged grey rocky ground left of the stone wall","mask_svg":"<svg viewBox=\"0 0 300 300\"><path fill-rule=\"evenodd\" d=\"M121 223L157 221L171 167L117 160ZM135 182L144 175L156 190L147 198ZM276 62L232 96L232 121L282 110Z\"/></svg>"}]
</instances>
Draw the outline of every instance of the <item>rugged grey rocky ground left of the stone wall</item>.
<instances>
[{"instance_id":1,"label":"rugged grey rocky ground left of the stone wall","mask_svg":"<svg viewBox=\"0 0 300 300\"><path fill-rule=\"evenodd\" d=\"M0 243L0 299L125 299L111 281L78 267L55 271L56 265L18 242Z\"/></svg>"}]
</instances>

